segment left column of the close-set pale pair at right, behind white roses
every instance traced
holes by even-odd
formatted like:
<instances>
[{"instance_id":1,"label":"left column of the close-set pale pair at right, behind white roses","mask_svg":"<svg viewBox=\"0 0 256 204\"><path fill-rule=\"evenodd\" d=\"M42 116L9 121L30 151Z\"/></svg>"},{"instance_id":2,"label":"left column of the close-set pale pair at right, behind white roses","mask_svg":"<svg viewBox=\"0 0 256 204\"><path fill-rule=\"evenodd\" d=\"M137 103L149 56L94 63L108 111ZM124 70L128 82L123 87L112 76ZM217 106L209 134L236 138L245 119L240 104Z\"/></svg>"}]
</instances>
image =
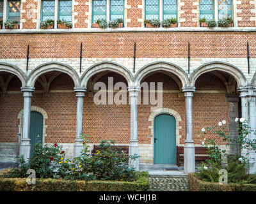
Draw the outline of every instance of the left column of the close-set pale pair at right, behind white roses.
<instances>
[{"instance_id":1,"label":"left column of the close-set pale pair at right, behind white roses","mask_svg":"<svg viewBox=\"0 0 256 204\"><path fill-rule=\"evenodd\" d=\"M242 112L242 117L246 120L248 120L248 89L247 87L239 87L237 91L240 92L240 98L241 98L241 112ZM241 155L246 157L248 154L248 149L243 149L241 152Z\"/></svg>"}]
</instances>

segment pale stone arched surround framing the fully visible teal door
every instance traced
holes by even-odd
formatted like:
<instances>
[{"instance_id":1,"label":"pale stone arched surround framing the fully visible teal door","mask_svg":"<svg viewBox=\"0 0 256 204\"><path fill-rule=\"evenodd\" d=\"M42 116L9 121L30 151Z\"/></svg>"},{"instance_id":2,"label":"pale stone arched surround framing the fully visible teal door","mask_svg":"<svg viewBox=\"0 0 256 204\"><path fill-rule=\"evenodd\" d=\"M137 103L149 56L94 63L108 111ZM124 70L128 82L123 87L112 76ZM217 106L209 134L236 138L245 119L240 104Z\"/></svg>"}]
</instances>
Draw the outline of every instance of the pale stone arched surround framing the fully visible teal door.
<instances>
[{"instance_id":1,"label":"pale stone arched surround framing the fully visible teal door","mask_svg":"<svg viewBox=\"0 0 256 204\"><path fill-rule=\"evenodd\" d=\"M180 126L180 122L182 120L181 120L180 114L170 108L159 108L159 109L155 110L154 112L150 113L150 115L148 117L148 121L151 122L151 126L148 126L148 128L151 129L151 135L152 135L151 145L152 146L154 145L154 119L157 117L157 115L161 115L164 113L172 115L175 118L175 120L176 120L176 145L180 145L181 135L180 135L179 130L182 128Z\"/></svg>"}]
</instances>

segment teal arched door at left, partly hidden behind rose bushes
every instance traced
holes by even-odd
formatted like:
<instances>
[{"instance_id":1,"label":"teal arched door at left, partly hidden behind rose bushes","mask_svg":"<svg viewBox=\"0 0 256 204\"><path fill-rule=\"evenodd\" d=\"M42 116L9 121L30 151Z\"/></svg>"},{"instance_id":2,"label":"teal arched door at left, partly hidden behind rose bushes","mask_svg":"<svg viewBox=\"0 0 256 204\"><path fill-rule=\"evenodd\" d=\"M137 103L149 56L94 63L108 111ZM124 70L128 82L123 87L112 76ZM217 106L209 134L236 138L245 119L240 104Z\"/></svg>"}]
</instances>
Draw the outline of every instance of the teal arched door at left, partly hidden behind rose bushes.
<instances>
[{"instance_id":1,"label":"teal arched door at left, partly hidden behind rose bushes","mask_svg":"<svg viewBox=\"0 0 256 204\"><path fill-rule=\"evenodd\" d=\"M30 132L29 138L31 142L32 155L35 148L35 143L43 143L43 115L38 112L31 112L30 115Z\"/></svg>"}]
</instances>

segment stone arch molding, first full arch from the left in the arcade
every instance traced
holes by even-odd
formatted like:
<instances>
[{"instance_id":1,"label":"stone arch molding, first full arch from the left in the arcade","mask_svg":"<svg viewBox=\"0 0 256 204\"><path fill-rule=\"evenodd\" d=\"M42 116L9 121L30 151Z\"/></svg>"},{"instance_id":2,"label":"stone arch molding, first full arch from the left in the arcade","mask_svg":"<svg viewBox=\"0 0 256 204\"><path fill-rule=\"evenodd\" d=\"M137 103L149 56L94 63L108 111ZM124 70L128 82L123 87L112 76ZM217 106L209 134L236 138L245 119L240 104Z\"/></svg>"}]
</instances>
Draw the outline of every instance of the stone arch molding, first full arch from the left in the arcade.
<instances>
[{"instance_id":1,"label":"stone arch molding, first full arch from the left in the arcade","mask_svg":"<svg viewBox=\"0 0 256 204\"><path fill-rule=\"evenodd\" d=\"M74 86L78 87L80 85L80 78L75 69L67 64L63 64L60 62L47 62L45 64L41 64L31 71L28 76L27 86L34 87L36 80L49 71L60 71L61 73L65 73L70 76L74 82Z\"/></svg>"}]
</instances>

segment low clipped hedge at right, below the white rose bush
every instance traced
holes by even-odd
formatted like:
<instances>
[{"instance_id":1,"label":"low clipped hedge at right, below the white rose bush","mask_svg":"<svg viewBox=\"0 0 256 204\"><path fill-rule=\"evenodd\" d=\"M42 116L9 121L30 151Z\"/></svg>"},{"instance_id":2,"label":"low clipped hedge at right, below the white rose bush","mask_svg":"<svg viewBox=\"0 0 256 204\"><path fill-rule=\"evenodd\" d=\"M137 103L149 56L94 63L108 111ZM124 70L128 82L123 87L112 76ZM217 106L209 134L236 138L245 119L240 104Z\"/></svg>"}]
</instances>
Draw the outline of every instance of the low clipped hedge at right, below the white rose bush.
<instances>
[{"instance_id":1,"label":"low clipped hedge at right, below the white rose bush","mask_svg":"<svg viewBox=\"0 0 256 204\"><path fill-rule=\"evenodd\" d=\"M191 191L256 191L256 184L219 184L197 179L189 173L188 184Z\"/></svg>"}]
</instances>

